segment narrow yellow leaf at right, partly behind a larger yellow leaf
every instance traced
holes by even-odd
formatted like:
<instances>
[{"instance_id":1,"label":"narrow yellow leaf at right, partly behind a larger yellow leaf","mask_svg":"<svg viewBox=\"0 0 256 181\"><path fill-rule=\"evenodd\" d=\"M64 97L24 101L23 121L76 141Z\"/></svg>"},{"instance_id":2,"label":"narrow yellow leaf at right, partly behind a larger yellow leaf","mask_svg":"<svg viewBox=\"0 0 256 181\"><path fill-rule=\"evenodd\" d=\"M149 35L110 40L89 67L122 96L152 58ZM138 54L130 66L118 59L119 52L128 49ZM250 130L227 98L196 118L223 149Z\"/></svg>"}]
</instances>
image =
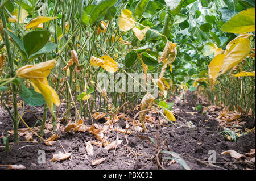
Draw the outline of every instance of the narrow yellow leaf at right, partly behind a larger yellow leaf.
<instances>
[{"instance_id":1,"label":"narrow yellow leaf at right, partly behind a larger yellow leaf","mask_svg":"<svg viewBox=\"0 0 256 181\"><path fill-rule=\"evenodd\" d=\"M225 54L218 54L216 57L213 58L213 60L208 65L208 76L210 85L213 85L215 82L218 73L220 72L223 62L224 62Z\"/></svg>"}]
</instances>

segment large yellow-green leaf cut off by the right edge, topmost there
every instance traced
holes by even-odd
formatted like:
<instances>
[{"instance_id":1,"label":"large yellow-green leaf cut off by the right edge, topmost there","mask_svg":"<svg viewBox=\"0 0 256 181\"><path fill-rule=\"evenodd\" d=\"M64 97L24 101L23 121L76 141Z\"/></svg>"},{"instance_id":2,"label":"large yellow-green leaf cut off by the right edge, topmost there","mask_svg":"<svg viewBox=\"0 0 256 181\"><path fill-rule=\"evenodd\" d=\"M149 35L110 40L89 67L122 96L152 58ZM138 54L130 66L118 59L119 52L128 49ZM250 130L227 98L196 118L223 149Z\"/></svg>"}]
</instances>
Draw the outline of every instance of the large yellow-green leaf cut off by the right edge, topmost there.
<instances>
[{"instance_id":1,"label":"large yellow-green leaf cut off by the right edge, topmost there","mask_svg":"<svg viewBox=\"0 0 256 181\"><path fill-rule=\"evenodd\" d=\"M250 8L234 15L221 27L229 33L246 33L255 31L255 8Z\"/></svg>"}]
</instances>

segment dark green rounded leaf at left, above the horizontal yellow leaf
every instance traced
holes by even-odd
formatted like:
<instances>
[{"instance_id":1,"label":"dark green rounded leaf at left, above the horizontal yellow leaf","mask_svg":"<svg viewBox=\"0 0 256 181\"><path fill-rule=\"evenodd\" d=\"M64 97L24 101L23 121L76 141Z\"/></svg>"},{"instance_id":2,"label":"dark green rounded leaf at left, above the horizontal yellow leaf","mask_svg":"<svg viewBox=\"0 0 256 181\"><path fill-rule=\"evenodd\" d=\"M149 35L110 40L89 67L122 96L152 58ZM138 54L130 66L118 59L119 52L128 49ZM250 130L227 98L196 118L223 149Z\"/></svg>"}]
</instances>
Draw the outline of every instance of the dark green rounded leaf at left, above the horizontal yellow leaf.
<instances>
[{"instance_id":1,"label":"dark green rounded leaf at left, above the horizontal yellow leaf","mask_svg":"<svg viewBox=\"0 0 256 181\"><path fill-rule=\"evenodd\" d=\"M38 52L49 41L51 33L48 30L32 31L23 37L23 44L28 56Z\"/></svg>"}]
</instances>

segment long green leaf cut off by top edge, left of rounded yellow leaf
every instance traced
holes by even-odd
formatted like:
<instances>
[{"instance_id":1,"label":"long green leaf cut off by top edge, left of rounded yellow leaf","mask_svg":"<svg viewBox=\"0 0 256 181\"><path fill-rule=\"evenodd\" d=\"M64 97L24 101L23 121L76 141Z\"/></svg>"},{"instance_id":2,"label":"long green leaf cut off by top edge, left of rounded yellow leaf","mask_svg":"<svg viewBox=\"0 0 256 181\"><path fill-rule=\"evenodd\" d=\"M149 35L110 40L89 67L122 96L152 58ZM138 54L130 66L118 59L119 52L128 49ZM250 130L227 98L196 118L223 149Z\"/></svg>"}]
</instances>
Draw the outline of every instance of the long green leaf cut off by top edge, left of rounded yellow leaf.
<instances>
[{"instance_id":1,"label":"long green leaf cut off by top edge, left of rounded yellow leaf","mask_svg":"<svg viewBox=\"0 0 256 181\"><path fill-rule=\"evenodd\" d=\"M107 10L112 7L117 0L105 0L98 3L97 6L92 10L92 14L90 14L90 24L96 22L96 20L101 16L106 14Z\"/></svg>"}]
</instances>

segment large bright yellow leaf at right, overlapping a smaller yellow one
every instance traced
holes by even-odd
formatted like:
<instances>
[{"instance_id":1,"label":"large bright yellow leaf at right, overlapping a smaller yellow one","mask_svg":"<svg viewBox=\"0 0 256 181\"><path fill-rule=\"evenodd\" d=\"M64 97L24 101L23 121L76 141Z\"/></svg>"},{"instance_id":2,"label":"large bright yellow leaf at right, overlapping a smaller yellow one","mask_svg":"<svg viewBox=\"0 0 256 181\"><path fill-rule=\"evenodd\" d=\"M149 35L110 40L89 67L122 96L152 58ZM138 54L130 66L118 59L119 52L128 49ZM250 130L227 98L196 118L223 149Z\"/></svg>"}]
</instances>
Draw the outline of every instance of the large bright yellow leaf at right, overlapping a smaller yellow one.
<instances>
[{"instance_id":1,"label":"large bright yellow leaf at right, overlapping a smaller yellow one","mask_svg":"<svg viewBox=\"0 0 256 181\"><path fill-rule=\"evenodd\" d=\"M230 47L232 50L230 50L224 58L223 66L218 76L225 74L226 71L232 69L251 52L251 45L248 39L240 38L234 41L233 44L234 47L233 45Z\"/></svg>"}]
</instances>

